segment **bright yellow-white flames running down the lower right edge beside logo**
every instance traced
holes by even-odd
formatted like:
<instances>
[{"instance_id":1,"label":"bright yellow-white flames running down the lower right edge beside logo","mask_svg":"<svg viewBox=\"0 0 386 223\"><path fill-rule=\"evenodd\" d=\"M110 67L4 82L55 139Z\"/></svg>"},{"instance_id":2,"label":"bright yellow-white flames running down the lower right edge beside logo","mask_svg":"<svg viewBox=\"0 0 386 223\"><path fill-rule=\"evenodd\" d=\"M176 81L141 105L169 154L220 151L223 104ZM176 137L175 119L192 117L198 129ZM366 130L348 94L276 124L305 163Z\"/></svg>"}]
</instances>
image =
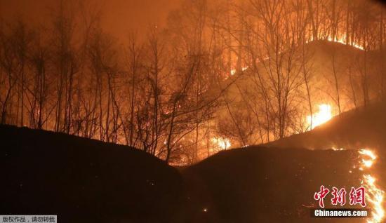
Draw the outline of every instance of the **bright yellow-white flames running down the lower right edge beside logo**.
<instances>
[{"instance_id":1,"label":"bright yellow-white flames running down the lower right edge beside logo","mask_svg":"<svg viewBox=\"0 0 386 223\"><path fill-rule=\"evenodd\" d=\"M361 154L361 167L360 170L369 169L375 162L377 156L374 151L369 149L359 150ZM370 174L364 174L362 184L366 188L366 200L371 203L373 212L371 219L368 219L367 222L375 223L382 222L383 217L385 216L385 210L383 210L383 194L385 193L375 184L376 179Z\"/></svg>"}]
</instances>

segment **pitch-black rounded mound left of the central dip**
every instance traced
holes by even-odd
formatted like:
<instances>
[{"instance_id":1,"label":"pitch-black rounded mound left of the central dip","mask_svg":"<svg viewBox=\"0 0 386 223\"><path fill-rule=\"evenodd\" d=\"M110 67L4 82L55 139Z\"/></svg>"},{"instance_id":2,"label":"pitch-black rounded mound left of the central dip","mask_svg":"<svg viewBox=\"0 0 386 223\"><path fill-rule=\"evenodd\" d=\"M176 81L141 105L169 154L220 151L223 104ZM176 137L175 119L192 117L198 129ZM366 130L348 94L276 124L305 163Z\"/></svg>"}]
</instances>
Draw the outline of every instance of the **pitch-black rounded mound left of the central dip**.
<instances>
[{"instance_id":1,"label":"pitch-black rounded mound left of the central dip","mask_svg":"<svg viewBox=\"0 0 386 223\"><path fill-rule=\"evenodd\" d=\"M0 141L1 214L52 214L59 222L173 222L182 180L158 158L12 126L0 126Z\"/></svg>"}]
</instances>

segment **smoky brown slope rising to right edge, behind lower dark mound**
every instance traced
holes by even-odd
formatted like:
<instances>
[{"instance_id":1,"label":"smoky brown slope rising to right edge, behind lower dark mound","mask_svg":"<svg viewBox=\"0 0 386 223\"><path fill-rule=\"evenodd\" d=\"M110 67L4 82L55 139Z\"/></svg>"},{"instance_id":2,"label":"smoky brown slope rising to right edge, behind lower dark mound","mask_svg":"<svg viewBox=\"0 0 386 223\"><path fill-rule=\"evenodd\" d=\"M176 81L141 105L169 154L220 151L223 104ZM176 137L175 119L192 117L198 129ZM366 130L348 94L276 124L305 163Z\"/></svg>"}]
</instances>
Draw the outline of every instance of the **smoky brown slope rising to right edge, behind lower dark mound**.
<instances>
[{"instance_id":1,"label":"smoky brown slope rising to right edge, behind lower dark mound","mask_svg":"<svg viewBox=\"0 0 386 223\"><path fill-rule=\"evenodd\" d=\"M285 137L269 147L380 148L386 146L386 103L374 103L335 116L314 130Z\"/></svg>"}]
</instances>

